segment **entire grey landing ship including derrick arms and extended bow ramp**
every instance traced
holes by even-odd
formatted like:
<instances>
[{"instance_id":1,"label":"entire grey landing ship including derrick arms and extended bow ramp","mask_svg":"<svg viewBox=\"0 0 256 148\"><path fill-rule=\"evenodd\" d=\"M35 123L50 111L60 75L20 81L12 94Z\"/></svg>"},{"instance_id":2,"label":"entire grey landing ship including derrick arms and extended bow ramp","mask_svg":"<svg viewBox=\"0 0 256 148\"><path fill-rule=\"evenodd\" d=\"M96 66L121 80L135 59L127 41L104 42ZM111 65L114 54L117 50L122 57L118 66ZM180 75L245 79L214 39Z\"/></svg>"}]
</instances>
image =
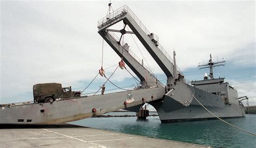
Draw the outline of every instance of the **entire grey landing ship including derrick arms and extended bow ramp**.
<instances>
[{"instance_id":1,"label":"entire grey landing ship including derrick arms and extended bow ramp","mask_svg":"<svg viewBox=\"0 0 256 148\"><path fill-rule=\"evenodd\" d=\"M34 100L2 104L0 105L0 124L66 123L119 109L138 112L145 103L151 104L157 110L162 123L245 116L245 109L241 103L245 97L238 97L237 90L224 82L224 78L214 79L213 77L213 67L224 61L212 62L211 58L207 65L202 65L204 68L210 68L210 75L206 75L201 81L188 82L176 64L175 51L171 58L159 43L159 37L147 30L128 6L124 5L112 11L111 8L110 3L107 15L98 21L98 33L119 55L120 62L117 68L131 74L139 82L139 86L130 90L123 89L124 91L104 94L104 84L111 82L111 76L116 70L107 76L102 66L96 75L96 77L100 75L106 78L105 83L100 87L102 94L97 94L99 89L93 95L83 96L82 94L82 96L58 98L45 103ZM111 26L117 23L123 23L123 27L113 29ZM134 54L129 43L124 41L124 36L127 34L135 35L150 53L166 75L165 84L157 79L143 60ZM137 77L130 73L127 67ZM111 83L116 86L113 82Z\"/></svg>"}]
</instances>

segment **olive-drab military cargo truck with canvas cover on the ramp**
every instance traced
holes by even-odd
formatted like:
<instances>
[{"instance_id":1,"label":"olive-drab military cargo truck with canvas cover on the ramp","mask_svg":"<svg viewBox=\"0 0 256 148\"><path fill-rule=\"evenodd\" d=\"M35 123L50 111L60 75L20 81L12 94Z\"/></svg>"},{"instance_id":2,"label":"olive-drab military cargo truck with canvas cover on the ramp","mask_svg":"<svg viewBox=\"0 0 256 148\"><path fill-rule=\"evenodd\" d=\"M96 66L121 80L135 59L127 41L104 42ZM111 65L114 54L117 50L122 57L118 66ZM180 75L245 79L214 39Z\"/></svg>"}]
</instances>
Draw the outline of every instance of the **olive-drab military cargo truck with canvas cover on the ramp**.
<instances>
[{"instance_id":1,"label":"olive-drab military cargo truck with canvas cover on the ramp","mask_svg":"<svg viewBox=\"0 0 256 148\"><path fill-rule=\"evenodd\" d=\"M72 91L71 86L62 88L60 83L39 83L33 85L35 103L53 102L58 98L78 97L80 94L81 91Z\"/></svg>"}]
</instances>

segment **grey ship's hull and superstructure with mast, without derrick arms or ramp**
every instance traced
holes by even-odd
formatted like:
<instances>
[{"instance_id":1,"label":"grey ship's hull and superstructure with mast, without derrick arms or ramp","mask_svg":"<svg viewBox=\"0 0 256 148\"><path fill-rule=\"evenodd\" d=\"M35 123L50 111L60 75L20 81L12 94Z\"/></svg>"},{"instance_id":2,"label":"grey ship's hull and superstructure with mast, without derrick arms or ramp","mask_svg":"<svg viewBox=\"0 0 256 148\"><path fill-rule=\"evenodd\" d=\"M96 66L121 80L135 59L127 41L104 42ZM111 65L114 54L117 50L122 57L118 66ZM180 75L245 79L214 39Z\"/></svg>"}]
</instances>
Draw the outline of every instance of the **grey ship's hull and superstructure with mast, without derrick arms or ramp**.
<instances>
[{"instance_id":1,"label":"grey ship's hull and superstructure with mast, without derrick arms or ramp","mask_svg":"<svg viewBox=\"0 0 256 148\"><path fill-rule=\"evenodd\" d=\"M237 89L232 87L228 82L224 81L224 77L214 79L213 67L224 66L223 61L210 60L207 64L199 65L203 68L209 68L210 74L205 73L204 79L199 81L191 81L190 84L194 89L194 97L190 105L186 108L177 108L178 103L170 101L163 105L159 103L151 103L157 109L162 123L166 122L186 122L186 121L201 121L208 119L217 119L214 115L220 118L239 118L245 117L245 108L242 100L248 100L247 96L238 97ZM208 110L202 107L199 102Z\"/></svg>"}]
</instances>

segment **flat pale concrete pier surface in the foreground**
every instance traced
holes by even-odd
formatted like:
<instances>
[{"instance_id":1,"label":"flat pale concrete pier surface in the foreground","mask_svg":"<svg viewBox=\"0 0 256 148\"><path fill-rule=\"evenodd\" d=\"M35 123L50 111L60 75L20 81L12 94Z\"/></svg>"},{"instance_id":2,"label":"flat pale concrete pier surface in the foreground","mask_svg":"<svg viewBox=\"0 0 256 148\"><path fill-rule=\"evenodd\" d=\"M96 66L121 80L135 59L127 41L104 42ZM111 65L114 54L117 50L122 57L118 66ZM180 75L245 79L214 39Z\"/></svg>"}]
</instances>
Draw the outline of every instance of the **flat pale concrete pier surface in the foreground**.
<instances>
[{"instance_id":1,"label":"flat pale concrete pier surface in the foreground","mask_svg":"<svg viewBox=\"0 0 256 148\"><path fill-rule=\"evenodd\" d=\"M1 125L0 147L208 147L71 124Z\"/></svg>"}]
</instances>

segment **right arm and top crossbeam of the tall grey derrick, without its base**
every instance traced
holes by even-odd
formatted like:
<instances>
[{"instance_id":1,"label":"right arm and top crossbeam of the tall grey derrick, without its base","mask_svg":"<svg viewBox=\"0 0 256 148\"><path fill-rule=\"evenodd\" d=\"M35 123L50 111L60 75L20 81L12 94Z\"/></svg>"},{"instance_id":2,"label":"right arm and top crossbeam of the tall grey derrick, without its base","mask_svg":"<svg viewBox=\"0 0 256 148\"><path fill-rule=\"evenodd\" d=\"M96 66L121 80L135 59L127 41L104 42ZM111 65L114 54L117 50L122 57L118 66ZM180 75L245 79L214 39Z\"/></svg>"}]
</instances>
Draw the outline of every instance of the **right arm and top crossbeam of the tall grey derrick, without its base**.
<instances>
[{"instance_id":1,"label":"right arm and top crossbeam of the tall grey derrick, without its base","mask_svg":"<svg viewBox=\"0 0 256 148\"><path fill-rule=\"evenodd\" d=\"M176 65L173 65L173 60L164 48L158 43L158 37L149 32L146 27L140 22L138 17L126 6L113 11L98 22L99 33L104 32L108 27L123 20L124 24L129 25L140 42L149 51L153 59L157 62L160 68L167 76L167 83L173 84L173 79L177 79Z\"/></svg>"}]
</instances>

